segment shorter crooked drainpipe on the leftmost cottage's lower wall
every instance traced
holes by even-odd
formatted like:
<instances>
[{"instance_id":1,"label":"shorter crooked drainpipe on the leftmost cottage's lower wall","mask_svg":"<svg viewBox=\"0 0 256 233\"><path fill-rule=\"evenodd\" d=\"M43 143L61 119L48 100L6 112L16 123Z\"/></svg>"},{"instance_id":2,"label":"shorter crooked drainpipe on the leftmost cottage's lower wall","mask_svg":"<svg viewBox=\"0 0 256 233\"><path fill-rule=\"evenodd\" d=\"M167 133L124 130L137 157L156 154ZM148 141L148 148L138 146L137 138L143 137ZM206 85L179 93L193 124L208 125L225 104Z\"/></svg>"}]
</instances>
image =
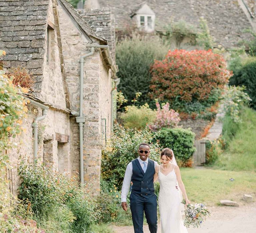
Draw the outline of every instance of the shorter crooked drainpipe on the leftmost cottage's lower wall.
<instances>
[{"instance_id":1,"label":"shorter crooked drainpipe on the leftmost cottage's lower wall","mask_svg":"<svg viewBox=\"0 0 256 233\"><path fill-rule=\"evenodd\" d=\"M38 103L36 101L33 101L33 100L29 99L29 98L26 98L26 99L29 100L30 104L32 104L33 106L36 106L38 108L43 109L42 116L36 117L34 119L34 122L32 123L32 126L34 128L34 136L33 136L34 137L34 140L33 140L33 144L34 144L34 146L33 146L33 161L34 161L34 164L35 164L36 163L36 159L37 159L37 151L38 151L38 138L37 138L37 136L38 136L38 121L45 119L49 107L45 106L43 104L40 104L40 103Z\"/></svg>"}]
</instances>

